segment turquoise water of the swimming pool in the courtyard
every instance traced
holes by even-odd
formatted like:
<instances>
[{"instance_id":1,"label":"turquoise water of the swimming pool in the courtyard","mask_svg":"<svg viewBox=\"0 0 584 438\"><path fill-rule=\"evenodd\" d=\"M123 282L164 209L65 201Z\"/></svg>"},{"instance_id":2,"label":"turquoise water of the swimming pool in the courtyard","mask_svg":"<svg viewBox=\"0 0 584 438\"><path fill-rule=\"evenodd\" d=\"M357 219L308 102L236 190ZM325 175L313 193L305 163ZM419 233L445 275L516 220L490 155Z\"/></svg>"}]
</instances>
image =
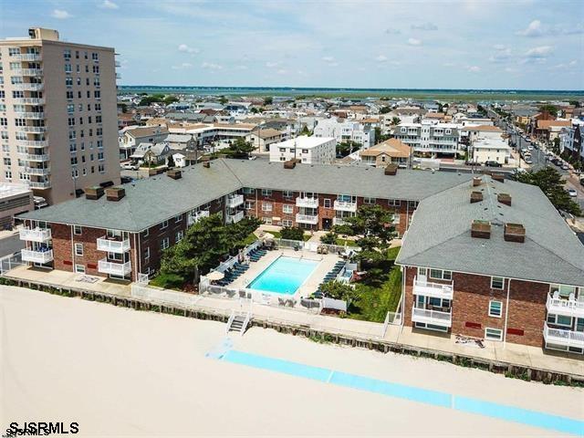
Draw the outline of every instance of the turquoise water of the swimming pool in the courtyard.
<instances>
[{"instance_id":1,"label":"turquoise water of the swimming pool in the courtyard","mask_svg":"<svg viewBox=\"0 0 584 438\"><path fill-rule=\"evenodd\" d=\"M248 288L292 295L312 274L318 262L294 257L280 256L264 272L256 276Z\"/></svg>"}]
</instances>

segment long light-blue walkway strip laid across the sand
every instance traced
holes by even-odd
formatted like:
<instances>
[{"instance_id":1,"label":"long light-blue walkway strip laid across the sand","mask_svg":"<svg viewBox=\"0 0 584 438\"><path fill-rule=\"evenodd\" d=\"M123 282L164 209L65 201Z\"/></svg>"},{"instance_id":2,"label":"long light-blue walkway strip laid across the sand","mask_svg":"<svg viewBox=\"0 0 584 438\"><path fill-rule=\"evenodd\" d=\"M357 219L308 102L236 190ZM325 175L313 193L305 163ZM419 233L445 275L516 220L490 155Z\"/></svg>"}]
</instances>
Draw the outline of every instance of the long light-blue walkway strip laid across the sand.
<instances>
[{"instance_id":1,"label":"long light-blue walkway strip laid across the sand","mask_svg":"<svg viewBox=\"0 0 584 438\"><path fill-rule=\"evenodd\" d=\"M418 401L456 411L474 413L507 422L518 422L552 431L573 433L578 436L584 434L584 422L568 417L560 417L546 412L530 411L493 401L462 397L442 391L426 390L391 381L371 379L366 376L313 367L289 360L269 358L244 351L237 351L229 347L224 349L220 355L215 356L214 359L254 367L260 370L280 372L312 381L321 381L355 390L370 391L394 398Z\"/></svg>"}]
</instances>

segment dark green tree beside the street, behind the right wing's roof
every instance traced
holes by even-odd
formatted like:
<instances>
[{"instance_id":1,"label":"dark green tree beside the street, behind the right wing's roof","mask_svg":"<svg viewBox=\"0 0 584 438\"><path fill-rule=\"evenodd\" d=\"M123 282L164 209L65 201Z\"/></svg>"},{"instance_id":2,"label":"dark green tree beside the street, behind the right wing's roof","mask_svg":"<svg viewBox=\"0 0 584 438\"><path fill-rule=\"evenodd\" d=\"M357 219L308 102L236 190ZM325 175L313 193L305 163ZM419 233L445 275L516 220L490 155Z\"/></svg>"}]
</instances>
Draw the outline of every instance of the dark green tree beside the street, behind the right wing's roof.
<instances>
[{"instance_id":1,"label":"dark green tree beside the street, behind the right wing's roof","mask_svg":"<svg viewBox=\"0 0 584 438\"><path fill-rule=\"evenodd\" d=\"M519 173L516 180L520 183L537 185L546 194L547 199L559 210L577 216L582 214L579 204L572 201L566 192L564 181L556 169L546 167L537 172Z\"/></svg>"}]
</instances>

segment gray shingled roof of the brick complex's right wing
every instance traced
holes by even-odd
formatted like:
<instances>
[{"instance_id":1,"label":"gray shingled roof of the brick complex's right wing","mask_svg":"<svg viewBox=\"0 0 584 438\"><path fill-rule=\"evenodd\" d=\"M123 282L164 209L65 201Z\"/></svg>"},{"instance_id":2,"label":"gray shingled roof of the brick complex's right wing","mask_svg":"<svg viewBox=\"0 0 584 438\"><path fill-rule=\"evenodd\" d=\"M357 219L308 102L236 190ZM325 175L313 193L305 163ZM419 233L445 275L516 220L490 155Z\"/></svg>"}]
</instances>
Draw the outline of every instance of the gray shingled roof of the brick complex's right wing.
<instances>
[{"instance_id":1,"label":"gray shingled roof of the brick complex's right wing","mask_svg":"<svg viewBox=\"0 0 584 438\"><path fill-rule=\"evenodd\" d=\"M413 214L399 265L427 266L487 276L584 286L584 246L541 190L533 185L483 177L459 184L420 203ZM470 203L470 193L484 200ZM511 206L496 194L511 195ZM491 238L471 237L474 219L491 222ZM506 242L504 224L523 224L525 243Z\"/></svg>"}]
</instances>

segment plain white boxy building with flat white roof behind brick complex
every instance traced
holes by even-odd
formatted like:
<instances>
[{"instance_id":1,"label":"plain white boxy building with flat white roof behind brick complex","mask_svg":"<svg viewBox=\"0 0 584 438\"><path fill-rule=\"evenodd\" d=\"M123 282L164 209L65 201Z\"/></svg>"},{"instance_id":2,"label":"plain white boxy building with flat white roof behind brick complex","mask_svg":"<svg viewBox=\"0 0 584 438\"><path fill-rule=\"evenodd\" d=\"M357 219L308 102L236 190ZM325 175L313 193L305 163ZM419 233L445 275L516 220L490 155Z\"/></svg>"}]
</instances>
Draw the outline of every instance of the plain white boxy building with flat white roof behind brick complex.
<instances>
[{"instance_id":1,"label":"plain white boxy building with flat white roof behind brick complex","mask_svg":"<svg viewBox=\"0 0 584 438\"><path fill-rule=\"evenodd\" d=\"M330 164L337 156L337 141L301 135L270 145L270 162L287 162L297 159L304 164Z\"/></svg>"}]
</instances>

